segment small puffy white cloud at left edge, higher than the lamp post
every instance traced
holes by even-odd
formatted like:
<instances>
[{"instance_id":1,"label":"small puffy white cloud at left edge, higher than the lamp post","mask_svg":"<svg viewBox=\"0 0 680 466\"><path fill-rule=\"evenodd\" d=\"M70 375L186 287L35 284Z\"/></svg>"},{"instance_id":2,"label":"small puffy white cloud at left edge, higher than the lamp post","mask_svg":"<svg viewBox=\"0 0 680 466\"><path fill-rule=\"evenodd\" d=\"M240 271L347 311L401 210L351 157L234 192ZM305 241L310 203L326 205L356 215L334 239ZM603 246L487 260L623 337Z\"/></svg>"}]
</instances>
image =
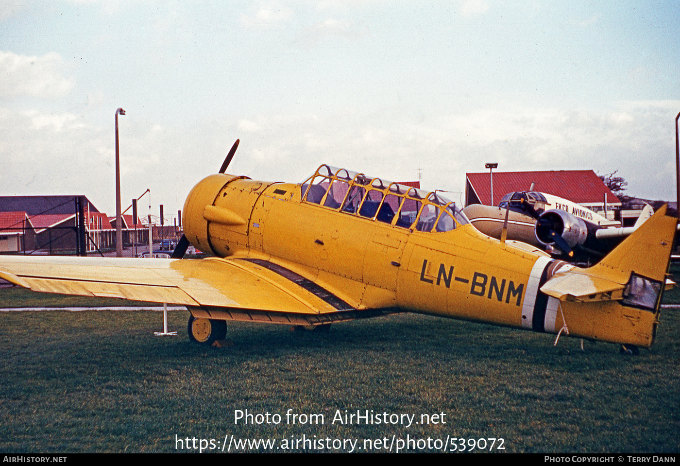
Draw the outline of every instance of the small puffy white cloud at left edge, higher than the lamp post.
<instances>
[{"instance_id":1,"label":"small puffy white cloud at left edge, higher than the lamp post","mask_svg":"<svg viewBox=\"0 0 680 466\"><path fill-rule=\"evenodd\" d=\"M0 51L0 97L63 97L73 88L73 79L65 78L61 67L55 52L24 56Z\"/></svg>"}]
</instances>

